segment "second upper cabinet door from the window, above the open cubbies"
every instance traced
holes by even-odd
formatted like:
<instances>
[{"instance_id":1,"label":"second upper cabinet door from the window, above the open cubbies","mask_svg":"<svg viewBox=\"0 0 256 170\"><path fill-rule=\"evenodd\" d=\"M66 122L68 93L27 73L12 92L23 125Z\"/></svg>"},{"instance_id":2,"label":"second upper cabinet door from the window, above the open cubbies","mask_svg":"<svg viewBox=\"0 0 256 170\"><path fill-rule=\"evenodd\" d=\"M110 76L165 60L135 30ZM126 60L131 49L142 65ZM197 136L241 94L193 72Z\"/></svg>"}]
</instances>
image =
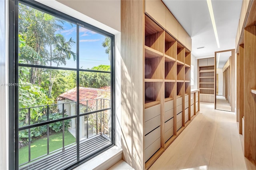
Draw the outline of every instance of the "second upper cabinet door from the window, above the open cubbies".
<instances>
[{"instance_id":1,"label":"second upper cabinet door from the window, above the open cubbies","mask_svg":"<svg viewBox=\"0 0 256 170\"><path fill-rule=\"evenodd\" d=\"M166 30L178 39L178 21L172 13L166 8Z\"/></svg>"}]
</instances>

